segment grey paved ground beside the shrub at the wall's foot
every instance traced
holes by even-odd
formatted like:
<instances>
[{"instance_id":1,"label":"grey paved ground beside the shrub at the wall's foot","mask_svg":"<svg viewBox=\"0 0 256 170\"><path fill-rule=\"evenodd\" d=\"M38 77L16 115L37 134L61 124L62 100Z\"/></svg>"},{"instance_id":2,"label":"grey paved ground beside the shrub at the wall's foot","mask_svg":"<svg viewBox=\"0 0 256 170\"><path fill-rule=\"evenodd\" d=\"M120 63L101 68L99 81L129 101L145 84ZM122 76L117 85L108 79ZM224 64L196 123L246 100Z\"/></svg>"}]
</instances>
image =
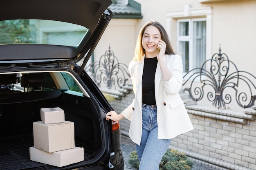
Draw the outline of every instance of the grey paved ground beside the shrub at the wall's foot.
<instances>
[{"instance_id":1,"label":"grey paved ground beside the shrub at the wall's foot","mask_svg":"<svg viewBox=\"0 0 256 170\"><path fill-rule=\"evenodd\" d=\"M135 144L128 137L121 137L121 149L124 156L124 170L135 170L135 168L130 167L128 159L130 152L135 151ZM202 164L194 162L193 168L191 170L216 170L216 168L211 168Z\"/></svg>"}]
</instances>

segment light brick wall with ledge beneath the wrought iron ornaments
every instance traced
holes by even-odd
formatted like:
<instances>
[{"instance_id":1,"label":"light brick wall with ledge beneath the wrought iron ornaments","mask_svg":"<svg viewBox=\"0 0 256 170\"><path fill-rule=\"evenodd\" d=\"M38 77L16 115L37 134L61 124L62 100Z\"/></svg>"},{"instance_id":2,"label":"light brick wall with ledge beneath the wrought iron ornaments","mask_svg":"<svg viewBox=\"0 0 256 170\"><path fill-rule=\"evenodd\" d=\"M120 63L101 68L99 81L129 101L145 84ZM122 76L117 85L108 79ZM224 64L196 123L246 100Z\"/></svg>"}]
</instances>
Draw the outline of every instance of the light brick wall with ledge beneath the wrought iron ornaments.
<instances>
[{"instance_id":1,"label":"light brick wall with ledge beneath the wrought iron ornaments","mask_svg":"<svg viewBox=\"0 0 256 170\"><path fill-rule=\"evenodd\" d=\"M133 99L134 94L127 93L111 105L121 113ZM170 148L216 170L256 170L256 107L239 112L190 105L183 99L195 129L173 138ZM123 119L120 126L121 134L128 136L130 121Z\"/></svg>"}]
</instances>

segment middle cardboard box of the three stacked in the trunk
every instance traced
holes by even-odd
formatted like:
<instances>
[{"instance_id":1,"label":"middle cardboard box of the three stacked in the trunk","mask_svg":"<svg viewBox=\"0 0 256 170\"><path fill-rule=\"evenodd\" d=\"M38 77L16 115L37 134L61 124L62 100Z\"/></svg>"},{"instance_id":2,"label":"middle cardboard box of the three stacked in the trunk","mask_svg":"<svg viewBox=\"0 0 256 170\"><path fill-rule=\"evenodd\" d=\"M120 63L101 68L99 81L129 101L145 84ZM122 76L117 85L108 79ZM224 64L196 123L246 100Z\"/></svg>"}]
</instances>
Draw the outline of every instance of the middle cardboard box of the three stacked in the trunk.
<instances>
[{"instance_id":1,"label":"middle cardboard box of the three stacked in the trunk","mask_svg":"<svg viewBox=\"0 0 256 170\"><path fill-rule=\"evenodd\" d=\"M46 152L56 152L75 147L74 122L62 124L33 123L34 147Z\"/></svg>"}]
</instances>

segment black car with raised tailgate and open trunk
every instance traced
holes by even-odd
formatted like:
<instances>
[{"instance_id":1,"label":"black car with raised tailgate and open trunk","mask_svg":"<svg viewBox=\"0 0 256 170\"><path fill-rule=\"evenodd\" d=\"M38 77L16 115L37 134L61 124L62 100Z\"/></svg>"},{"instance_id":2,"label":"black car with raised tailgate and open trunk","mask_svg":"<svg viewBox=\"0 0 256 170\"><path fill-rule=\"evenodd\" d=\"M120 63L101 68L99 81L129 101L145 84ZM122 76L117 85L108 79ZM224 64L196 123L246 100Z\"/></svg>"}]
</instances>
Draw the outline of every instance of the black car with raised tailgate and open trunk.
<instances>
[{"instance_id":1,"label":"black car with raised tailgate and open trunk","mask_svg":"<svg viewBox=\"0 0 256 170\"><path fill-rule=\"evenodd\" d=\"M0 3L1 170L124 169L119 122L106 121L112 107L84 70L114 15L111 3ZM41 108L56 107L74 122L75 146L83 148L83 161L58 167L30 160L33 122L41 121Z\"/></svg>"}]
</instances>

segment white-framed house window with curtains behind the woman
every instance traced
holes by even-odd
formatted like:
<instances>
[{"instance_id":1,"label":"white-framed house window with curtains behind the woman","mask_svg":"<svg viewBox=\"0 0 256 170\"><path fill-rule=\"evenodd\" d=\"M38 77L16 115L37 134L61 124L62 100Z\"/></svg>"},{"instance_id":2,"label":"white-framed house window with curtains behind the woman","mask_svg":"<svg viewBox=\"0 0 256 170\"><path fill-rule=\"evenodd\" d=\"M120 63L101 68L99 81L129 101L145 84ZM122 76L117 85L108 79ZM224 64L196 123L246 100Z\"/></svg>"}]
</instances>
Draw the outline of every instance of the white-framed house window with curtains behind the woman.
<instances>
[{"instance_id":1,"label":"white-framed house window with curtains behind the woman","mask_svg":"<svg viewBox=\"0 0 256 170\"><path fill-rule=\"evenodd\" d=\"M184 72L200 68L206 60L206 19L177 20L177 35Z\"/></svg>"}]
</instances>

